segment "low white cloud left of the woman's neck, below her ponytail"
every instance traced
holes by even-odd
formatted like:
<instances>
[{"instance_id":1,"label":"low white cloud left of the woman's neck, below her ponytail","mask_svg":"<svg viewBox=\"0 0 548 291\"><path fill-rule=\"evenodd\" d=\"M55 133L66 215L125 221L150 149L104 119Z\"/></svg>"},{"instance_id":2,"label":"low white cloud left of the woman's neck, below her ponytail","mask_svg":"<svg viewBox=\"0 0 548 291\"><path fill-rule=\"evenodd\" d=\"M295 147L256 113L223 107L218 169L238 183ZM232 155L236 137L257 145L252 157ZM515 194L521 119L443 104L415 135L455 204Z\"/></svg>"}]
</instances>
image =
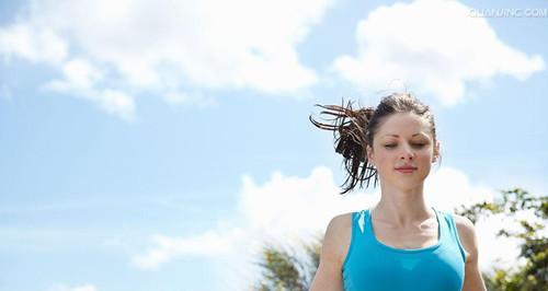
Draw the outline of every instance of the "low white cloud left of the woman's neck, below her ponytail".
<instances>
[{"instance_id":1,"label":"low white cloud left of the woman's neck, below her ponytail","mask_svg":"<svg viewBox=\"0 0 548 291\"><path fill-rule=\"evenodd\" d=\"M343 198L336 195L331 172L326 167L317 167L306 178L274 173L263 186L255 185L248 175L242 177L242 183L238 214L246 224L219 222L213 232L189 238L157 235L153 237L156 246L147 255L136 257L134 263L139 267L156 268L181 255L230 255L242 242L259 247L259 240L265 236L295 240L306 233L315 234L332 216L352 207L349 202L341 203ZM352 198L369 199L362 196L345 197L344 200Z\"/></svg>"}]
</instances>

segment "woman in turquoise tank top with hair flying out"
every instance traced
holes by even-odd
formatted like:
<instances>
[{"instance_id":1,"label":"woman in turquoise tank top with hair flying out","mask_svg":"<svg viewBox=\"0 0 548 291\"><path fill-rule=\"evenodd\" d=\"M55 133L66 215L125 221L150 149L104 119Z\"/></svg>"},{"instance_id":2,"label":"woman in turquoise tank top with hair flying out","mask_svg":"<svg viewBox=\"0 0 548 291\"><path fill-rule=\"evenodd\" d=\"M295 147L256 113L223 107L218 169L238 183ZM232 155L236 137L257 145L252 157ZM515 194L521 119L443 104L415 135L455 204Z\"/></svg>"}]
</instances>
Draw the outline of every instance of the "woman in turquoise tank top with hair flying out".
<instances>
[{"instance_id":1,"label":"woman in turquoise tank top with hair flying out","mask_svg":"<svg viewBox=\"0 0 548 291\"><path fill-rule=\"evenodd\" d=\"M374 179L381 198L330 221L310 290L486 290L473 223L424 200L424 179L439 158L429 106L395 93L377 108L320 107L334 124L310 120L335 133L349 174L342 194Z\"/></svg>"}]
</instances>

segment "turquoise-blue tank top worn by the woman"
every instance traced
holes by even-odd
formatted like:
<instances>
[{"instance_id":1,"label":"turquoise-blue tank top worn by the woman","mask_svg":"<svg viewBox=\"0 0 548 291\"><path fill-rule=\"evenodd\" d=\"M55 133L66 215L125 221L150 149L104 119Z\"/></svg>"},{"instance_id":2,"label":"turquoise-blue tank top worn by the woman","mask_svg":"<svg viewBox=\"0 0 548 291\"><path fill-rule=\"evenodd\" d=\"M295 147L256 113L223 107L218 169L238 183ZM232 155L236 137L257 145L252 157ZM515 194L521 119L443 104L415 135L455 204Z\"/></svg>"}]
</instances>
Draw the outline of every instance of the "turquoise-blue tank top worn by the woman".
<instances>
[{"instance_id":1,"label":"turquoise-blue tank top worn by the woman","mask_svg":"<svg viewBox=\"0 0 548 291\"><path fill-rule=\"evenodd\" d=\"M466 256L453 217L435 210L437 243L395 248L377 241L370 211L352 213L352 238L342 265L345 291L460 291Z\"/></svg>"}]
</instances>

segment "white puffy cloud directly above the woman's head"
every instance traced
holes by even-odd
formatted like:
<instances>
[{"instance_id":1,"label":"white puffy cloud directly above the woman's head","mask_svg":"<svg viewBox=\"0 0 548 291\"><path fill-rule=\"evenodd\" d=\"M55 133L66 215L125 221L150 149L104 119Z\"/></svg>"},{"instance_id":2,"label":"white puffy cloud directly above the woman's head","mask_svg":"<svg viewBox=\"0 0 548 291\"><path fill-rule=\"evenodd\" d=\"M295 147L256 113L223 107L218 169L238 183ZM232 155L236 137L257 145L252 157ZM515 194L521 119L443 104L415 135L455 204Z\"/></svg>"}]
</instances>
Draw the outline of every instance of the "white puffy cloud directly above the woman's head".
<instances>
[{"instance_id":1,"label":"white puffy cloud directly above the woman's head","mask_svg":"<svg viewBox=\"0 0 548 291\"><path fill-rule=\"evenodd\" d=\"M467 95L466 82L498 74L518 80L545 69L539 55L504 44L483 18L458 1L418 0L380 7L357 24L357 56L340 56L332 69L364 90L393 80L453 106Z\"/></svg>"}]
</instances>

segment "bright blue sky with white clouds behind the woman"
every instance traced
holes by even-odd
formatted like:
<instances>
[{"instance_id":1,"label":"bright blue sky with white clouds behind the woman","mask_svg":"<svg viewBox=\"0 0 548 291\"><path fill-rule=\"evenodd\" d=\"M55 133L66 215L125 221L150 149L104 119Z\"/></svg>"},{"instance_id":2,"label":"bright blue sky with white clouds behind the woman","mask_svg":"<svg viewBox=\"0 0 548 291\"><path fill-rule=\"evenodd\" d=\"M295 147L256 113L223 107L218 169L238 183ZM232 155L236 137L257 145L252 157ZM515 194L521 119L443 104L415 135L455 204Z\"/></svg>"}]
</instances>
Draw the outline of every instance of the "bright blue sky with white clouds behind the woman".
<instances>
[{"instance_id":1,"label":"bright blue sky with white clouds behind the woman","mask_svg":"<svg viewBox=\"0 0 548 291\"><path fill-rule=\"evenodd\" d=\"M493 9L514 14L478 16ZM378 198L339 197L332 136L308 121L342 97L431 105L441 209L547 195L548 16L526 9L547 5L0 2L0 290L244 290L263 240ZM515 252L489 247L493 223L484 270Z\"/></svg>"}]
</instances>

